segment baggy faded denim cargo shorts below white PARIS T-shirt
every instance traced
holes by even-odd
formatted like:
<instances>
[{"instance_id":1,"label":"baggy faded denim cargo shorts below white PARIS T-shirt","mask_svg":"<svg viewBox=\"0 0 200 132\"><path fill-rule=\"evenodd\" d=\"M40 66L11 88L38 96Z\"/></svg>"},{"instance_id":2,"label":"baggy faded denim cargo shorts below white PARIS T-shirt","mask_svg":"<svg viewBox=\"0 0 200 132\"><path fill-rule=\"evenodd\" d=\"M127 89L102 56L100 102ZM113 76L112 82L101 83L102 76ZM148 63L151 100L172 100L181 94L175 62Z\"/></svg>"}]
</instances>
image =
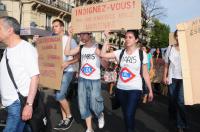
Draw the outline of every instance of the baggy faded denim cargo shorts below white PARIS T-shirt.
<instances>
[{"instance_id":1,"label":"baggy faded denim cargo shorts below white PARIS T-shirt","mask_svg":"<svg viewBox=\"0 0 200 132\"><path fill-rule=\"evenodd\" d=\"M79 78L78 102L82 119L91 116L92 112L99 117L104 109L101 81Z\"/></svg>"}]
</instances>

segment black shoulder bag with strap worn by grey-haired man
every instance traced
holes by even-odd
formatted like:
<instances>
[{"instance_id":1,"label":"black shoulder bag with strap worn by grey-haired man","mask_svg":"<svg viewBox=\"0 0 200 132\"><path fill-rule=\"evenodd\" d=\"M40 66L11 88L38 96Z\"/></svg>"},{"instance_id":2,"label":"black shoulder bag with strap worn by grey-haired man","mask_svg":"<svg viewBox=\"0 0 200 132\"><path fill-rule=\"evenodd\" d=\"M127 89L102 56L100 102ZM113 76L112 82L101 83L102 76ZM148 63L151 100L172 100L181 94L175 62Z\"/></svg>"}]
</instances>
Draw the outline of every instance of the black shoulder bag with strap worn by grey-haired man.
<instances>
[{"instance_id":1,"label":"black shoulder bag with strap worn by grey-haired man","mask_svg":"<svg viewBox=\"0 0 200 132\"><path fill-rule=\"evenodd\" d=\"M26 105L27 97L23 96L17 87L17 84L14 80L11 68L8 63L7 50L5 52L6 52L6 66L7 66L8 74L17 91L17 94L21 103L21 114L22 114L23 108ZM32 118L26 121L26 123L30 125L32 132L44 132L47 127L47 112L46 112L45 104L43 100L41 99L39 90L37 90L35 99L33 102Z\"/></svg>"}]
</instances>

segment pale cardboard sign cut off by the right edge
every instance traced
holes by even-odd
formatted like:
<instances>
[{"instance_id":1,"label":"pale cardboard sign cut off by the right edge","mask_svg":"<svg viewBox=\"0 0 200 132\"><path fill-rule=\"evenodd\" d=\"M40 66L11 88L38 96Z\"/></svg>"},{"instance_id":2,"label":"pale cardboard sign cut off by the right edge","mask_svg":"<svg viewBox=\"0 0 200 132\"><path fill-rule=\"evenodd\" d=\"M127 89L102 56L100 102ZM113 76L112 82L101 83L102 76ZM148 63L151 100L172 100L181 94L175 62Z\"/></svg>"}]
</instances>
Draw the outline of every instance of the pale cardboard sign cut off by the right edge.
<instances>
[{"instance_id":1,"label":"pale cardboard sign cut off by the right edge","mask_svg":"<svg viewBox=\"0 0 200 132\"><path fill-rule=\"evenodd\" d=\"M177 25L186 105L200 103L200 18Z\"/></svg>"}]
</instances>

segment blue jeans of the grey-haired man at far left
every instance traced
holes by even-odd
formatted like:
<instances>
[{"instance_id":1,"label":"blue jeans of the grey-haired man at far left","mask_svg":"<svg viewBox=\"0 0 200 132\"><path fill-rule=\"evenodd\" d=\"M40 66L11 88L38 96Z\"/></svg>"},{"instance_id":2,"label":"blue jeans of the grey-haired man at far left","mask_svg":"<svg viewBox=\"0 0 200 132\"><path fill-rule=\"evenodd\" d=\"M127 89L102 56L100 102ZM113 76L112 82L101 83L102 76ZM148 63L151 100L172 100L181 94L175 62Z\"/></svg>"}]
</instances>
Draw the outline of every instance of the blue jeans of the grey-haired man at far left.
<instances>
[{"instance_id":1,"label":"blue jeans of the grey-haired man at far left","mask_svg":"<svg viewBox=\"0 0 200 132\"><path fill-rule=\"evenodd\" d=\"M23 132L25 122L21 120L21 104L19 100L16 100L13 104L6 107L8 117L6 120L6 127L3 132Z\"/></svg>"}]
</instances>

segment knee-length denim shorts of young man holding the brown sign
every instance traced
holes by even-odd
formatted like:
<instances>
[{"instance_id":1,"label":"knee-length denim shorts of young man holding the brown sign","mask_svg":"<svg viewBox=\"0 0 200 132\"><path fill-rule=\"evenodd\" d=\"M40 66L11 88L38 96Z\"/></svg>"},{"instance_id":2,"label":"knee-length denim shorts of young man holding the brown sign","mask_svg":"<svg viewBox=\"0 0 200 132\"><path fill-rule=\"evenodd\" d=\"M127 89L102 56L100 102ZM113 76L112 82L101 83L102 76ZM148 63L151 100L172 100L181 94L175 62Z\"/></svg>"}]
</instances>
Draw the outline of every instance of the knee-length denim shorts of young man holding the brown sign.
<instances>
[{"instance_id":1,"label":"knee-length denim shorts of young man holding the brown sign","mask_svg":"<svg viewBox=\"0 0 200 132\"><path fill-rule=\"evenodd\" d=\"M55 98L57 101L61 101L65 99L65 96L68 92L68 88L72 78L74 76L74 72L63 72L62 82L60 86L60 90L56 91Z\"/></svg>"}]
</instances>

